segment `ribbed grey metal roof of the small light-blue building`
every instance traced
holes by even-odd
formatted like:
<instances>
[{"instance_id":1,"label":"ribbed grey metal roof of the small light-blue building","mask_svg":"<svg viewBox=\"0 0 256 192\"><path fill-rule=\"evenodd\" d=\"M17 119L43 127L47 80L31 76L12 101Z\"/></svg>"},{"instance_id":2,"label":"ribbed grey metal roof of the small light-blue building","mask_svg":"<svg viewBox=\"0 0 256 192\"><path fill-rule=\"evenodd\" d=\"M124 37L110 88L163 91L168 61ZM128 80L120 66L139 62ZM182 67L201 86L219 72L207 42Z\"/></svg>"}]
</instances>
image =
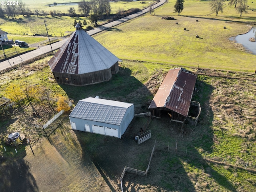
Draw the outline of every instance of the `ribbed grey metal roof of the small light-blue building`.
<instances>
[{"instance_id":1,"label":"ribbed grey metal roof of the small light-blue building","mask_svg":"<svg viewBox=\"0 0 256 192\"><path fill-rule=\"evenodd\" d=\"M134 104L100 98L78 101L70 117L120 125L126 110Z\"/></svg>"}]
</instances>

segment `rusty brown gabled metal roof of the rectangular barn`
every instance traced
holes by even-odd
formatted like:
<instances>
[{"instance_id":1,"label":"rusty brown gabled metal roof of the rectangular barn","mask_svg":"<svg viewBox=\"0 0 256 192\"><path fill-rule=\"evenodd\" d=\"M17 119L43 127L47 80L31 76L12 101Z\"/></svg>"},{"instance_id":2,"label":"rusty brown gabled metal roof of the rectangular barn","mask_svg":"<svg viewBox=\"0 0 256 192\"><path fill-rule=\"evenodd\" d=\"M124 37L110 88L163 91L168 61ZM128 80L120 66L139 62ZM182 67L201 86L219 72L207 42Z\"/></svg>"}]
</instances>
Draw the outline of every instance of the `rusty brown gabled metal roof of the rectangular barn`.
<instances>
[{"instance_id":1,"label":"rusty brown gabled metal roof of the rectangular barn","mask_svg":"<svg viewBox=\"0 0 256 192\"><path fill-rule=\"evenodd\" d=\"M195 84L196 75L184 68L170 69L148 108L166 107L187 117Z\"/></svg>"}]
</instances>

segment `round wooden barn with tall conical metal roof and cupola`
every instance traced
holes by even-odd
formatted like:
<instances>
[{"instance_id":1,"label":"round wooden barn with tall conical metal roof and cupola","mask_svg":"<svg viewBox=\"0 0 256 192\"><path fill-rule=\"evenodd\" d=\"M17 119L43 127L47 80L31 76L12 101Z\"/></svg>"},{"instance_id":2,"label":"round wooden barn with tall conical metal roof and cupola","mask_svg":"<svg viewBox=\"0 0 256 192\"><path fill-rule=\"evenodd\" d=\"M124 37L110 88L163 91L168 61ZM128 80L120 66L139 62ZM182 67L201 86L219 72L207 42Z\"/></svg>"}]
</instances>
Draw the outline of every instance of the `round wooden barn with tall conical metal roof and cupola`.
<instances>
[{"instance_id":1,"label":"round wooden barn with tall conical metal roof and cupola","mask_svg":"<svg viewBox=\"0 0 256 192\"><path fill-rule=\"evenodd\" d=\"M58 83L83 86L110 80L119 71L118 60L77 24L48 64Z\"/></svg>"}]
</instances>

